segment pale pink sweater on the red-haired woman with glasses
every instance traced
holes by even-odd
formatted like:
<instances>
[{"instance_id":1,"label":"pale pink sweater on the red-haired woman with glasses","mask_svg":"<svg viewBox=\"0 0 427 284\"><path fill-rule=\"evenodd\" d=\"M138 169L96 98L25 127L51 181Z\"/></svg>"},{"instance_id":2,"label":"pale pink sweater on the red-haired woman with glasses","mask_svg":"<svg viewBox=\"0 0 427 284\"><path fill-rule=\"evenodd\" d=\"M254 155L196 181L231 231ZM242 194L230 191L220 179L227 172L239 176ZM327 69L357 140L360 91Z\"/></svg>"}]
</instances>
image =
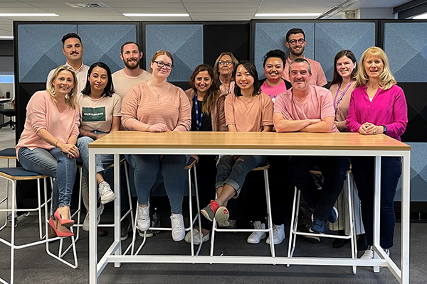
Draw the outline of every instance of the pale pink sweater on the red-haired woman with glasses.
<instances>
[{"instance_id":1,"label":"pale pink sweater on the red-haired woman with glasses","mask_svg":"<svg viewBox=\"0 0 427 284\"><path fill-rule=\"evenodd\" d=\"M135 84L122 102L122 124L134 130L136 124L166 124L167 131L191 129L191 107L186 94L179 87L167 83L159 99L147 82Z\"/></svg>"}]
</instances>

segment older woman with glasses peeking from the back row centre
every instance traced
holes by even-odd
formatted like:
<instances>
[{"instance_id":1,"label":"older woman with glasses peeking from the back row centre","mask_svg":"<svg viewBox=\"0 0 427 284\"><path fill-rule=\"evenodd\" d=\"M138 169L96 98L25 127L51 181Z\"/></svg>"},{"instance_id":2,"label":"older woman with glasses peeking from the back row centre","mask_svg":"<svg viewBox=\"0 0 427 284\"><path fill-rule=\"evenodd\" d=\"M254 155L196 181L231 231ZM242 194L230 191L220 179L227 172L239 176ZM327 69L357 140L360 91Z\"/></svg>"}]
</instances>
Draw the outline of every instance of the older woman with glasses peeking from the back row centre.
<instances>
[{"instance_id":1,"label":"older woman with glasses peeking from the back row centre","mask_svg":"<svg viewBox=\"0 0 427 284\"><path fill-rule=\"evenodd\" d=\"M214 65L214 73L218 78L219 89L221 94L231 94L234 89L234 68L238 65L238 60L233 53L221 53L216 58Z\"/></svg>"}]
</instances>

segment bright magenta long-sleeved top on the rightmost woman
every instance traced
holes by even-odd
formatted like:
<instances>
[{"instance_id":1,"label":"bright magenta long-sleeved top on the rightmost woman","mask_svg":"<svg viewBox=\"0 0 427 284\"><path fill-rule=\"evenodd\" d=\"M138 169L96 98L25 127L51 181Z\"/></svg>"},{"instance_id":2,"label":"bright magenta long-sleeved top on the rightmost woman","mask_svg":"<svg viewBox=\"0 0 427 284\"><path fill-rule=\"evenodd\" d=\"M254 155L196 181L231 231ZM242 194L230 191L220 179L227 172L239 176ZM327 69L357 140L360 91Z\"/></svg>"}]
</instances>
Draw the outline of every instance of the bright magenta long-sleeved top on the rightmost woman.
<instances>
[{"instance_id":1,"label":"bright magenta long-sleeved top on the rightmost woman","mask_svg":"<svg viewBox=\"0 0 427 284\"><path fill-rule=\"evenodd\" d=\"M351 132L359 132L365 122L376 126L385 125L386 135L401 141L408 124L404 90L396 84L390 89L378 89L371 102L366 85L354 89L350 98L347 127Z\"/></svg>"}]
</instances>

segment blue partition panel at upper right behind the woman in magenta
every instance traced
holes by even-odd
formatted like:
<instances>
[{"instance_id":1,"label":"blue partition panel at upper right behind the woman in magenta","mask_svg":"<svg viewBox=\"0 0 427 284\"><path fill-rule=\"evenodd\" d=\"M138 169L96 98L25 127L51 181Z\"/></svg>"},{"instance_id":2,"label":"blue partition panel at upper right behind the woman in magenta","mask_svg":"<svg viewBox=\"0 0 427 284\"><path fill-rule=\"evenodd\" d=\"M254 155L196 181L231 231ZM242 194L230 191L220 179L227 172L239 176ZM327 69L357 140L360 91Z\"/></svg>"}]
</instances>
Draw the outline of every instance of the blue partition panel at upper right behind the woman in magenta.
<instances>
[{"instance_id":1,"label":"blue partition panel at upper right behind the woman in magenta","mask_svg":"<svg viewBox=\"0 0 427 284\"><path fill-rule=\"evenodd\" d=\"M385 23L384 51L397 82L427 82L427 23Z\"/></svg>"}]
</instances>

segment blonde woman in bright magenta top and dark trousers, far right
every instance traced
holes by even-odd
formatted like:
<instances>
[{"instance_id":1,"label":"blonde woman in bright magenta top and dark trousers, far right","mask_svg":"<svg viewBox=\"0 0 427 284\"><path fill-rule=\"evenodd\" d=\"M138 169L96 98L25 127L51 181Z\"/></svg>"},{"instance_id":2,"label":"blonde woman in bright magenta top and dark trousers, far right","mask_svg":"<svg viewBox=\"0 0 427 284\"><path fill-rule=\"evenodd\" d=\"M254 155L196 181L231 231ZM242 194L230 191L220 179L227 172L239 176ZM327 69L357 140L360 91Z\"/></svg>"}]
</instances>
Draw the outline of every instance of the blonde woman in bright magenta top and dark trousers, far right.
<instances>
[{"instance_id":1,"label":"blonde woman in bright magenta top and dark trousers, far right","mask_svg":"<svg viewBox=\"0 0 427 284\"><path fill-rule=\"evenodd\" d=\"M350 98L347 127L362 135L384 133L401 141L408 124L408 107L403 89L396 85L389 60L381 48L368 48L360 59L357 84ZM362 204L362 219L368 249L362 258L374 257L374 157L352 157L352 173ZM401 158L381 158L381 224L380 245L389 254L393 246L394 195L401 176Z\"/></svg>"}]
</instances>

